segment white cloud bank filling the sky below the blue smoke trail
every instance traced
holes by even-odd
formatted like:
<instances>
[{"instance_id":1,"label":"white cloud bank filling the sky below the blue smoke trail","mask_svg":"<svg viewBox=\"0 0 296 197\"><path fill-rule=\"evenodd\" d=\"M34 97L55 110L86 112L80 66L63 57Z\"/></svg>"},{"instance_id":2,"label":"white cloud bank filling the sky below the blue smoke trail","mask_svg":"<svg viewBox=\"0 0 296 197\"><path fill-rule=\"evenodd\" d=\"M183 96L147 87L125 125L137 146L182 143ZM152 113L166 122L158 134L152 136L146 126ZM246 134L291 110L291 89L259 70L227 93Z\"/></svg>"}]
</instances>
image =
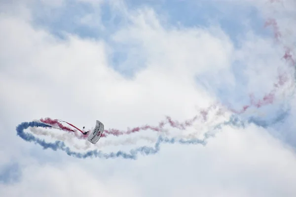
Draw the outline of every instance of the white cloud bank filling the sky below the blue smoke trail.
<instances>
[{"instance_id":1,"label":"white cloud bank filling the sky below the blue smoke trail","mask_svg":"<svg viewBox=\"0 0 296 197\"><path fill-rule=\"evenodd\" d=\"M33 162L20 182L2 185L0 195L293 196L295 164L294 153L266 131L227 128L206 147L163 145L158 155L137 162Z\"/></svg>"}]
</instances>

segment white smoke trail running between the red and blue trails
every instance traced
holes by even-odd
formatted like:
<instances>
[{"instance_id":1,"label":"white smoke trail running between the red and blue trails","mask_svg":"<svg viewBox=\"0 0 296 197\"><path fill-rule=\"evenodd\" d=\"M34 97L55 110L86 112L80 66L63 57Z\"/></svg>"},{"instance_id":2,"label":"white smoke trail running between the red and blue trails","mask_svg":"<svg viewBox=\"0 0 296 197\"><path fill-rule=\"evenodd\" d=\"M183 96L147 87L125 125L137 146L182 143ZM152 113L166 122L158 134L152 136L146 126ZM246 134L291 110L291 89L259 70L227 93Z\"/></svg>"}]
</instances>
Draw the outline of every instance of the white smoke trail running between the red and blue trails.
<instances>
[{"instance_id":1,"label":"white smoke trail running between the red and blue trails","mask_svg":"<svg viewBox=\"0 0 296 197\"><path fill-rule=\"evenodd\" d=\"M99 142L96 144L90 143L80 133L76 133L76 132L67 132L67 131L55 132L54 130L46 131L44 129L39 129L39 128L30 128L30 131L35 135L48 136L54 140L64 141L65 143L71 144L75 149L78 149L78 150L87 150L93 147L103 148L107 146L135 145L140 140L144 140L149 143L155 143L160 134L166 137L174 137L176 139L198 138L202 134L205 134L208 131L212 130L214 128L214 125L217 125L218 122L222 121L221 118L225 118L224 117L225 111L223 111L221 107L218 107L218 108L215 107L214 109L213 107L211 108L212 109L208 110L206 117L204 116L202 119L199 119L197 123L195 123L193 126L188 127L186 130L183 130L183 131L179 131L178 129L174 129L174 128L173 129L164 128L162 129L162 131L158 132L157 136L136 135L133 137L128 136L127 138L125 136L121 136L116 139L101 138ZM59 128L54 128L54 129L59 129ZM155 131L153 132L155 133ZM83 139L84 143L83 144L77 143L79 142L77 141L77 139Z\"/></svg>"}]
</instances>

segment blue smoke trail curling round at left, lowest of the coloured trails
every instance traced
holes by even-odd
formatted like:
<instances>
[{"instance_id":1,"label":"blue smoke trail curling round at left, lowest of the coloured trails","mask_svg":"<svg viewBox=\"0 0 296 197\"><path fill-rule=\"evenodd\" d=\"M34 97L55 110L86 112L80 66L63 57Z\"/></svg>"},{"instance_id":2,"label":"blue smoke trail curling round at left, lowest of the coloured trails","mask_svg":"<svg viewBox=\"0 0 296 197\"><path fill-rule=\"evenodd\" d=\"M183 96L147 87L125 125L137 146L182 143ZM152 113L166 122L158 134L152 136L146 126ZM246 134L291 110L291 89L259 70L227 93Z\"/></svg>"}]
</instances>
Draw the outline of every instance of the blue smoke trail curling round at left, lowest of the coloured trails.
<instances>
[{"instance_id":1,"label":"blue smoke trail curling round at left, lowest of the coloured trails","mask_svg":"<svg viewBox=\"0 0 296 197\"><path fill-rule=\"evenodd\" d=\"M267 126L276 124L280 121L283 121L287 117L288 113L281 113L277 116L276 119L270 122L266 121L258 121L256 118L250 118L247 123L254 123L255 125L259 127L266 128ZM227 125L232 125L238 128L245 128L245 122L242 121L238 118L238 116L231 116L228 121L222 122L221 124L216 125L214 130L221 129L222 126L227 126ZM49 125L46 125L44 123L39 123L39 122L24 122L21 123L16 127L17 135L19 135L22 139L28 141L28 142L35 142L36 144L39 144L43 147L43 149L50 148L54 151L56 150L62 150L65 151L69 156L73 156L76 158L92 158L92 157L97 157L97 158L102 158L102 159L110 159L110 158L119 158L122 157L124 159L132 159L136 160L137 155L140 153L142 155L154 155L160 150L160 144L161 143L180 143L180 144L201 144L201 145L206 145L206 139L208 139L211 136L214 136L214 134L210 134L210 132L207 132L205 134L205 138L203 140L200 139L189 139L189 140L176 140L175 138L167 138L167 137L162 137L159 136L154 147L148 147L148 146L142 146L136 149L130 150L129 153L123 152L123 151L118 151L118 152L111 152L111 153L104 153L103 151L98 151L98 150L93 150L93 151L88 151L86 153L77 153L74 151L71 151L70 147L67 147L63 141L55 141L54 143L51 142L45 142L45 140L41 140L40 138L35 137L33 134L30 133L25 133L24 130L28 129L29 127L51 127Z\"/></svg>"}]
</instances>

